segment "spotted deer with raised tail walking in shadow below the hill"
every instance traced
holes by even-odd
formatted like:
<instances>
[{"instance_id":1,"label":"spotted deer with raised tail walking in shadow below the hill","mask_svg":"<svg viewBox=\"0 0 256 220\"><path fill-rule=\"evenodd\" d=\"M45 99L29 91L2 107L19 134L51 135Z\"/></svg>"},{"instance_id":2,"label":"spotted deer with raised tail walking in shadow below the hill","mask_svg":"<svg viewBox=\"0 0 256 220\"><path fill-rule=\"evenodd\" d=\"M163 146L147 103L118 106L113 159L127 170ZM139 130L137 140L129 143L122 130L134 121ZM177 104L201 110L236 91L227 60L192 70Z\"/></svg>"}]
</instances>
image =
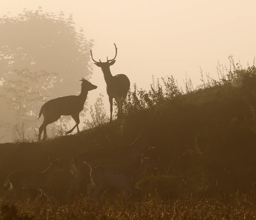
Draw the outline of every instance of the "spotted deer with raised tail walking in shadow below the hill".
<instances>
[{"instance_id":1,"label":"spotted deer with raised tail walking in shadow below the hill","mask_svg":"<svg viewBox=\"0 0 256 220\"><path fill-rule=\"evenodd\" d=\"M156 169L158 164L149 157L145 158L141 155L141 166L138 171L132 171L126 167L114 165L99 165L93 167L90 163L85 162L90 169L91 183L87 185L88 196L92 197L96 203L97 195L101 188L115 187L125 191L125 201L127 201L132 193L133 186L141 180L147 169ZM91 193L91 191L93 192Z\"/></svg>"}]
</instances>

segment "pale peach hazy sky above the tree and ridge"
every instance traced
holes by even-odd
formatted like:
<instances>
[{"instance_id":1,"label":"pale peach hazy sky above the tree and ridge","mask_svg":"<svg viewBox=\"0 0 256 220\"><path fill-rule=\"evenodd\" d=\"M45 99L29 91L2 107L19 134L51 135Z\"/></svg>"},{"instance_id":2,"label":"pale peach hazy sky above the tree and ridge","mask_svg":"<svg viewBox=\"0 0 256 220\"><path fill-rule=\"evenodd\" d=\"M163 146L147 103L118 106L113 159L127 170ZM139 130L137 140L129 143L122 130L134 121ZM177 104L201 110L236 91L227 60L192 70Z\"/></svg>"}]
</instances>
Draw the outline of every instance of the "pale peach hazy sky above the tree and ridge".
<instances>
[{"instance_id":1,"label":"pale peach hazy sky above the tree and ridge","mask_svg":"<svg viewBox=\"0 0 256 220\"><path fill-rule=\"evenodd\" d=\"M85 37L94 40L95 60L114 56L116 43L112 74L126 74L131 85L145 90L152 75L155 79L173 75L184 88L186 73L195 88L200 84L200 67L217 79L218 60L229 66L228 56L233 54L246 67L256 54L256 1L1 0L0 16L10 12L13 17L38 6L43 12L73 14L77 30L83 27ZM103 93L107 100L99 67L90 81L98 86L95 94ZM71 94L75 92L72 88ZM88 98L93 104L95 97ZM108 101L105 108L109 109Z\"/></svg>"}]
</instances>

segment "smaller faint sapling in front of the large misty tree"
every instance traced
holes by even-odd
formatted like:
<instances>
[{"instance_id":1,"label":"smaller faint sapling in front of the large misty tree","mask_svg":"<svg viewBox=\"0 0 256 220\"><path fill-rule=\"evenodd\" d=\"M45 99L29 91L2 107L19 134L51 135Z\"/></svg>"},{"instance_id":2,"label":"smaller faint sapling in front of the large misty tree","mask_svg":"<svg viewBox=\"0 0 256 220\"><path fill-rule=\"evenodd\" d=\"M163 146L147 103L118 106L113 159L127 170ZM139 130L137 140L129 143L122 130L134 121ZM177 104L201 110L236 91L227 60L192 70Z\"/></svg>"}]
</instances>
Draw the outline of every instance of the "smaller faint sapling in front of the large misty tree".
<instances>
[{"instance_id":1,"label":"smaller faint sapling in front of the large misty tree","mask_svg":"<svg viewBox=\"0 0 256 220\"><path fill-rule=\"evenodd\" d=\"M15 79L6 79L6 83L1 89L4 91L0 98L5 100L6 105L2 107L8 114L8 122L3 120L3 125L16 130L16 138L25 140L27 134L33 134L35 125L36 109L35 103L41 104L50 96L49 88L53 86L56 74L45 71L32 73L27 68L14 70ZM54 76L55 75L55 76ZM47 78L48 84L40 84L39 78ZM48 94L45 92L48 91ZM45 95L42 95L42 92ZM5 114L5 117L7 116ZM30 132L29 132L30 131ZM32 136L33 137L33 136Z\"/></svg>"}]
</instances>

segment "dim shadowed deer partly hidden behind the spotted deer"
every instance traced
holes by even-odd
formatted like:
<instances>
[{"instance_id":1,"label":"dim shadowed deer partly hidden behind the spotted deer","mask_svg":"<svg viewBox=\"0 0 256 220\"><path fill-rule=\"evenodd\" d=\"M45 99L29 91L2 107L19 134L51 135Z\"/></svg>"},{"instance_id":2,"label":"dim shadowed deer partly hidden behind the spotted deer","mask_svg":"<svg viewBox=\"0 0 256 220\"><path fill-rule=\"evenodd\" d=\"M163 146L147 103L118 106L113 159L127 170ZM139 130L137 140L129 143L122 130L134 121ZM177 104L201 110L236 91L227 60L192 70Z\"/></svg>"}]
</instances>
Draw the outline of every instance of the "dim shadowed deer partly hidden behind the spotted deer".
<instances>
[{"instance_id":1,"label":"dim shadowed deer partly hidden behind the spotted deer","mask_svg":"<svg viewBox=\"0 0 256 220\"><path fill-rule=\"evenodd\" d=\"M83 162L98 166L102 164L110 164L121 167L131 167L141 155L143 150L148 147L148 136L141 133L136 140L130 144L118 144L106 147L91 149L77 154L71 161L71 173L75 175L71 181L68 191L68 199L75 191L77 185L81 183L89 174L88 166Z\"/></svg>"}]
</instances>

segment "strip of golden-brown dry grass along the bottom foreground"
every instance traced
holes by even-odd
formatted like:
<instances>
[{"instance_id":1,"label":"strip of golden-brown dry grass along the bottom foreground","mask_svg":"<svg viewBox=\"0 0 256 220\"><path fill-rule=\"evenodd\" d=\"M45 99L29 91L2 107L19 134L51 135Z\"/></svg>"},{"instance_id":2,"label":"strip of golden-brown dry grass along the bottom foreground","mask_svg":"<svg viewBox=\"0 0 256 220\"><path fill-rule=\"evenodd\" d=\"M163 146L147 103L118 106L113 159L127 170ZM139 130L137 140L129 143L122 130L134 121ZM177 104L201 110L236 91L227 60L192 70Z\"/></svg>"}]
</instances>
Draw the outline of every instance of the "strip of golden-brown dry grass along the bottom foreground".
<instances>
[{"instance_id":1,"label":"strip of golden-brown dry grass along the bottom foreground","mask_svg":"<svg viewBox=\"0 0 256 220\"><path fill-rule=\"evenodd\" d=\"M255 219L255 194L237 193L223 196L184 195L163 201L150 195L133 197L125 204L122 194L101 198L95 205L87 197L78 196L69 204L37 200L15 203L19 215L33 219Z\"/></svg>"}]
</instances>

